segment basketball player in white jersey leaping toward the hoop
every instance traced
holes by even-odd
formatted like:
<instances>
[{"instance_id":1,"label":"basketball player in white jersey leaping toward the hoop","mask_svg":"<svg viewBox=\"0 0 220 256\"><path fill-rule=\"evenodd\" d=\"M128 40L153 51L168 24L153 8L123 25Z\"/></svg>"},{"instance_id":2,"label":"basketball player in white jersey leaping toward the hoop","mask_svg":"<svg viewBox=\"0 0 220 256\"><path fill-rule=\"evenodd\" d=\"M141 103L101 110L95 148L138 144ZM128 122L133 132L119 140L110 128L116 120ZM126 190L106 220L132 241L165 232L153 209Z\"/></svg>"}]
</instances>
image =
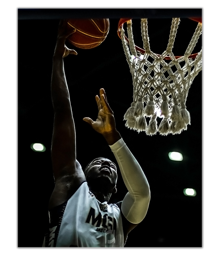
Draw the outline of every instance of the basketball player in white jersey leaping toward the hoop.
<instances>
[{"instance_id":1,"label":"basketball player in white jersey leaping toward the hoop","mask_svg":"<svg viewBox=\"0 0 220 256\"><path fill-rule=\"evenodd\" d=\"M63 58L76 51L65 46L66 21L58 29L53 56L51 94L54 108L52 165L55 188L49 201L49 231L43 247L123 247L128 233L146 216L150 201L147 179L121 135L104 89L96 96L98 117L83 118L104 136L118 162L128 193L110 204L116 192L116 165L106 158L94 159L83 172L76 160L76 139ZM83 100L83 98L81 98Z\"/></svg>"}]
</instances>

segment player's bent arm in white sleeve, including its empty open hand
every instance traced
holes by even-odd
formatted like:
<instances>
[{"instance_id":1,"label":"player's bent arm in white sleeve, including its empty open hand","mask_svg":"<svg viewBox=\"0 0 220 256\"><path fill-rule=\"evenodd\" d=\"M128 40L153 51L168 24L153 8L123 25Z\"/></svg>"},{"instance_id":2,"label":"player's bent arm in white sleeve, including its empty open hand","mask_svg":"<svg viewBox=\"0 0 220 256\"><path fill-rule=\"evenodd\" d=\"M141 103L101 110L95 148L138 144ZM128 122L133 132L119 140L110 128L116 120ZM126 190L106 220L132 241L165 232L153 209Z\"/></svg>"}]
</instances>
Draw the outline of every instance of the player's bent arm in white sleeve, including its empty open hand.
<instances>
[{"instance_id":1,"label":"player's bent arm in white sleeve, including its empty open hand","mask_svg":"<svg viewBox=\"0 0 220 256\"><path fill-rule=\"evenodd\" d=\"M96 101L99 110L97 120L93 121L88 117L83 120L104 136L119 164L128 189L121 205L122 213L128 221L123 225L123 229L128 234L146 216L150 202L150 187L141 166L116 130L114 114L109 107L104 89L100 90L100 98L96 96Z\"/></svg>"}]
</instances>

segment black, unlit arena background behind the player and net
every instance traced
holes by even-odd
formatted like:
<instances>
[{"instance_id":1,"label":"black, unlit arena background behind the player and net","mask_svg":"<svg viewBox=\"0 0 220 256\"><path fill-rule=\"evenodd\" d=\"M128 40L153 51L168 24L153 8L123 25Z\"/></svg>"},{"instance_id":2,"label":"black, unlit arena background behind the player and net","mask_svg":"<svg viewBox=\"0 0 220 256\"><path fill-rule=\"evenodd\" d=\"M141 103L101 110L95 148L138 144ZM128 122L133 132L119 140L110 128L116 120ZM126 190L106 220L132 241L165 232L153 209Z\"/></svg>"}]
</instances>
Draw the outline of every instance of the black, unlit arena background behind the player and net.
<instances>
[{"instance_id":1,"label":"black, unlit arena background behind the player and net","mask_svg":"<svg viewBox=\"0 0 220 256\"><path fill-rule=\"evenodd\" d=\"M147 17L151 50L167 47L172 17L180 17L173 52L183 55L202 9L19 9L18 10L18 246L41 247L48 222L47 205L54 182L50 147L53 109L50 94L52 56L60 18L110 19L106 40L97 48L74 48L77 56L64 59L65 74L77 135L77 159L83 168L97 156L114 161L109 146L82 119L97 117L95 96L105 88L123 140L141 165L151 190L145 219L129 234L126 247L202 246L202 72L194 79L186 101L191 125L179 135L153 135L127 129L123 115L132 102L132 75L117 35L120 18L133 18L136 45L142 47L140 18ZM200 51L200 39L193 53ZM71 45L67 44L71 48ZM149 120L148 120L149 121ZM159 122L159 119L158 119ZM45 152L30 145L42 143ZM171 161L168 152L183 154ZM184 188L194 188L186 197ZM119 174L118 192L111 202L123 199L127 190ZM33 232L33 229L35 230Z\"/></svg>"}]
</instances>

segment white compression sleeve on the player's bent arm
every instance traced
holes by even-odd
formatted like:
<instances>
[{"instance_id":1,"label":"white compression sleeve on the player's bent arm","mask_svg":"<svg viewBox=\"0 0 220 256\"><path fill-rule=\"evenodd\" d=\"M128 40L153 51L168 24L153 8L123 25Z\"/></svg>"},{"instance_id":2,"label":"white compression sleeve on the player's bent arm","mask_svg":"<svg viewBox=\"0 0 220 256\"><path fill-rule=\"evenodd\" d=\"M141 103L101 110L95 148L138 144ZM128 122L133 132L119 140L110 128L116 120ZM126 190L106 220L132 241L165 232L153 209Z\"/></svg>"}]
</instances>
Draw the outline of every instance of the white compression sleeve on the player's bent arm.
<instances>
[{"instance_id":1,"label":"white compression sleeve on the player's bent arm","mask_svg":"<svg viewBox=\"0 0 220 256\"><path fill-rule=\"evenodd\" d=\"M123 139L110 145L119 164L123 181L128 189L121 210L125 218L133 224L140 223L146 216L150 202L150 188L146 176Z\"/></svg>"}]
</instances>

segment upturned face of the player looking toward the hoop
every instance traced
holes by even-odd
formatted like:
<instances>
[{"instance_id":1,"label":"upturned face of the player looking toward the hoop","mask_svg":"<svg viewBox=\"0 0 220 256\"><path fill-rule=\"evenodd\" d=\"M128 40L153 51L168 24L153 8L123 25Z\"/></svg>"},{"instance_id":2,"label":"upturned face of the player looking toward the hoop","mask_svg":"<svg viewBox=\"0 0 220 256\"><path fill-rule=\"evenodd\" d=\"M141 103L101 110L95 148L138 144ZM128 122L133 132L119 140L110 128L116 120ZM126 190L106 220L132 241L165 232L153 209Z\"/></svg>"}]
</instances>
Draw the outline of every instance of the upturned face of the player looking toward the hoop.
<instances>
[{"instance_id":1,"label":"upturned face of the player looking toward the hoop","mask_svg":"<svg viewBox=\"0 0 220 256\"><path fill-rule=\"evenodd\" d=\"M117 171L116 165L107 158L96 159L90 164L86 177L108 178L116 184Z\"/></svg>"}]
</instances>

